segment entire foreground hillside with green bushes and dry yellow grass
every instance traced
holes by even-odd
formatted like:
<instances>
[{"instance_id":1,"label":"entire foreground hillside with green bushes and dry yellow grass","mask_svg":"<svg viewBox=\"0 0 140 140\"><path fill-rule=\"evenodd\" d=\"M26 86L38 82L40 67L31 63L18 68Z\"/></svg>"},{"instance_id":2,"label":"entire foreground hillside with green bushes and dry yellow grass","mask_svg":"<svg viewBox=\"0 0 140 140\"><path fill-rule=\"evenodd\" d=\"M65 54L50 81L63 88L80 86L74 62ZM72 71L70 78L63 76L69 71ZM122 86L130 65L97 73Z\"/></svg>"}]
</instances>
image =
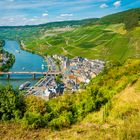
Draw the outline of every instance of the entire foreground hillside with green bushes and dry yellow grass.
<instances>
[{"instance_id":1,"label":"entire foreground hillside with green bushes and dry yellow grass","mask_svg":"<svg viewBox=\"0 0 140 140\"><path fill-rule=\"evenodd\" d=\"M139 65L114 64L86 90L50 101L0 87L0 139L139 139Z\"/></svg>"}]
</instances>

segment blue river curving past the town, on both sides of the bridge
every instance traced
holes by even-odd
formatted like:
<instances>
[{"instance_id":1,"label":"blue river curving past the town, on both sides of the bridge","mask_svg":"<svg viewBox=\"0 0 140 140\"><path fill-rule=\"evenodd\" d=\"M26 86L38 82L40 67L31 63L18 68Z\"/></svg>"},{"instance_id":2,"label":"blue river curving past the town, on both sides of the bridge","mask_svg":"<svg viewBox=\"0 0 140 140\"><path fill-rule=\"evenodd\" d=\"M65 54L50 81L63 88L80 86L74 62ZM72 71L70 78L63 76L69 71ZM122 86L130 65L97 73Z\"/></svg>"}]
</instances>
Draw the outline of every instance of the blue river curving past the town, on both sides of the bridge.
<instances>
[{"instance_id":1,"label":"blue river curving past the town, on both sides of the bridge","mask_svg":"<svg viewBox=\"0 0 140 140\"><path fill-rule=\"evenodd\" d=\"M15 56L15 63L9 71L15 72L44 72L47 71L47 63L44 58L24 51L20 48L20 43L13 40L5 40L4 50L12 53ZM42 64L46 67L43 69ZM12 75L11 79L7 80L6 76L0 77L0 84L2 85L13 85L14 88L20 86L22 83L30 81L34 85L38 80L33 79L32 75Z\"/></svg>"}]
</instances>

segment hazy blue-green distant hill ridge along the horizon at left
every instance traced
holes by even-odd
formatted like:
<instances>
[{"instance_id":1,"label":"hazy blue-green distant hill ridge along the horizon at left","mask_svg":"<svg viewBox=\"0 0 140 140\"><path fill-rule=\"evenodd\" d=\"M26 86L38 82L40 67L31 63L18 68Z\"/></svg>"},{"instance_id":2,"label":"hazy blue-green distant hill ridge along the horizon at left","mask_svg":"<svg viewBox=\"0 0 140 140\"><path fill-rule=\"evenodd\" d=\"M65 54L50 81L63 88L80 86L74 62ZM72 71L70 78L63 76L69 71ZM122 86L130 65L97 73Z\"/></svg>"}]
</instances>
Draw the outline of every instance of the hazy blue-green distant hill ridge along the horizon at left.
<instances>
[{"instance_id":1,"label":"hazy blue-green distant hill ridge along the horizon at left","mask_svg":"<svg viewBox=\"0 0 140 140\"><path fill-rule=\"evenodd\" d=\"M28 38L32 36L38 37L46 30L52 28L63 28L66 26L77 27L87 25L91 22L97 22L98 18L84 19L84 20L72 20L72 21L61 21L51 22L40 25L26 25L26 26L0 26L0 39L20 39Z\"/></svg>"}]
</instances>

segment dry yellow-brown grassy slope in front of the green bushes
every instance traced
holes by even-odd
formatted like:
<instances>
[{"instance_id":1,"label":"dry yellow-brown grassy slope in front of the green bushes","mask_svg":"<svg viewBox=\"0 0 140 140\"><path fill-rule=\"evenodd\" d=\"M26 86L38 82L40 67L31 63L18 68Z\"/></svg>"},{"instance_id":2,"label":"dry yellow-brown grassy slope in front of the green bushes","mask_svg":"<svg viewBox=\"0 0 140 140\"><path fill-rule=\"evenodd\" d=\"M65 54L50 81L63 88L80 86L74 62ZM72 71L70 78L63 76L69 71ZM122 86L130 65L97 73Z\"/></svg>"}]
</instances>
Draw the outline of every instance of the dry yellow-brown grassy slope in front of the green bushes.
<instances>
[{"instance_id":1,"label":"dry yellow-brown grassy slope in front of the green bushes","mask_svg":"<svg viewBox=\"0 0 140 140\"><path fill-rule=\"evenodd\" d=\"M81 123L69 129L51 131L49 129L24 130L16 124L0 123L0 139L46 139L46 140L92 140L140 138L140 79L112 98L108 116L103 117L106 107L90 113Z\"/></svg>"}]
</instances>

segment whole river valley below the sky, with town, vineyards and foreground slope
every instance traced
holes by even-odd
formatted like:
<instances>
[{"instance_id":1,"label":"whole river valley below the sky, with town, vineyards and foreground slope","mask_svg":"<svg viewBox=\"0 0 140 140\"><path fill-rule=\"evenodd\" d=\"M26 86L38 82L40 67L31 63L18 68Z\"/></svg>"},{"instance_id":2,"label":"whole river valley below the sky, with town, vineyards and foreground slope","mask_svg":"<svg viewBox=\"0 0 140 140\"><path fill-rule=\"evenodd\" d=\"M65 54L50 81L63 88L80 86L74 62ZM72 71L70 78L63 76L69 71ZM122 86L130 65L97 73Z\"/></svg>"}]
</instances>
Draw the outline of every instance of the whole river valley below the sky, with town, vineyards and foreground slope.
<instances>
[{"instance_id":1,"label":"whole river valley below the sky, with town, vineyards and foreground slope","mask_svg":"<svg viewBox=\"0 0 140 140\"><path fill-rule=\"evenodd\" d=\"M3 26L0 40L16 58L0 80L0 139L140 139L140 8ZM44 76L20 90L29 75L14 72Z\"/></svg>"}]
</instances>

